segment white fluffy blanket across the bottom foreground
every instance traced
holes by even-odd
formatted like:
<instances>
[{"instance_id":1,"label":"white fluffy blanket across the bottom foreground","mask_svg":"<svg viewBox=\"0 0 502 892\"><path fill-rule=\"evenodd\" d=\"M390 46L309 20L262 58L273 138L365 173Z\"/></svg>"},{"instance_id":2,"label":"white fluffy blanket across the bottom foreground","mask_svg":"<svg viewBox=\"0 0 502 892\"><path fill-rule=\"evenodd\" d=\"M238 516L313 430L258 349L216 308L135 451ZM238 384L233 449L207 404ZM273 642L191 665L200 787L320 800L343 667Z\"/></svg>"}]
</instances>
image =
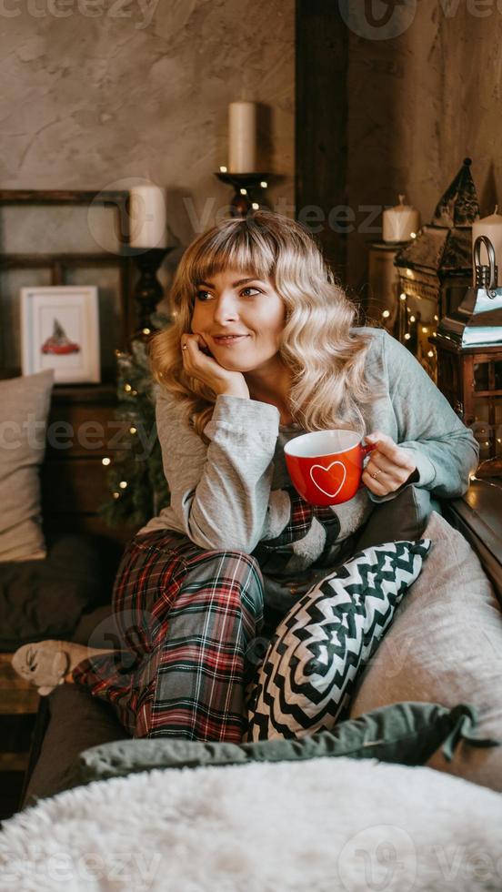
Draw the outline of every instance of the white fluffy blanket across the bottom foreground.
<instances>
[{"instance_id":1,"label":"white fluffy blanket across the bottom foreground","mask_svg":"<svg viewBox=\"0 0 502 892\"><path fill-rule=\"evenodd\" d=\"M41 800L0 835L2 892L501 887L502 796L375 760L129 775Z\"/></svg>"}]
</instances>

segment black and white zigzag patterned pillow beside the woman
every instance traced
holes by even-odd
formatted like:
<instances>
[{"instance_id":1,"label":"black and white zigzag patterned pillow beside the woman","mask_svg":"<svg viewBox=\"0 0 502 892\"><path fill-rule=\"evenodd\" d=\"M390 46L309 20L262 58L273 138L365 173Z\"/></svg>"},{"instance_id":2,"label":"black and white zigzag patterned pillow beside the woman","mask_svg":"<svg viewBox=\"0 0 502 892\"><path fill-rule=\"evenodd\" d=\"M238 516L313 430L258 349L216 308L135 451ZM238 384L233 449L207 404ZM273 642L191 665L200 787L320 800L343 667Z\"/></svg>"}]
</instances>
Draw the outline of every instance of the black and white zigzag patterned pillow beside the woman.
<instances>
[{"instance_id":1,"label":"black and white zigzag patterned pillow beside the woman","mask_svg":"<svg viewBox=\"0 0 502 892\"><path fill-rule=\"evenodd\" d=\"M331 730L431 546L366 548L291 608L247 691L246 739L304 737Z\"/></svg>"}]
</instances>

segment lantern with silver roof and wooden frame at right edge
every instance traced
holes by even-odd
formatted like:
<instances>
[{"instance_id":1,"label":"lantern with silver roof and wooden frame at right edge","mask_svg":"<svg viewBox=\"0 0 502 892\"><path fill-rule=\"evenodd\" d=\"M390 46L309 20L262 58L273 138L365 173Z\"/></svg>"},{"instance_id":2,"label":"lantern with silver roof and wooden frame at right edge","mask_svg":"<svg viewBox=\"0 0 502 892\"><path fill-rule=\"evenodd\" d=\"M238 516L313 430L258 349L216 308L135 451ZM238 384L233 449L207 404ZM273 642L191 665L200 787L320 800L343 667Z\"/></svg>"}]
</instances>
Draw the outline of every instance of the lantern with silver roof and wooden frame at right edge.
<instances>
[{"instance_id":1,"label":"lantern with silver roof and wooden frame at right edge","mask_svg":"<svg viewBox=\"0 0 502 892\"><path fill-rule=\"evenodd\" d=\"M487 236L476 239L474 263L474 286L437 328L437 386L472 428L481 459L496 459L502 455L502 288Z\"/></svg>"}]
</instances>

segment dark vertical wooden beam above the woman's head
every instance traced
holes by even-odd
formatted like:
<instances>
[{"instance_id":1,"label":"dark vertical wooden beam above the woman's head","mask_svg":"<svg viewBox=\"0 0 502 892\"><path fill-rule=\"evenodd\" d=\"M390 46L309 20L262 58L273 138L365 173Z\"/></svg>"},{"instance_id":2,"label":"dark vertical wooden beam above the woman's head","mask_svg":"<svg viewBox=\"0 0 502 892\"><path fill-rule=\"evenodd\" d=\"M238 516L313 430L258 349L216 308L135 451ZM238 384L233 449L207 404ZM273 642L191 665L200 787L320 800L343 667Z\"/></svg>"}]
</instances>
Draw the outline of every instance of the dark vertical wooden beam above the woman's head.
<instances>
[{"instance_id":1,"label":"dark vertical wooden beam above the woman's head","mask_svg":"<svg viewBox=\"0 0 502 892\"><path fill-rule=\"evenodd\" d=\"M347 27L336 0L296 0L296 218L342 280L343 213L334 217L347 203L347 57ZM308 206L316 210L307 214Z\"/></svg>"}]
</instances>

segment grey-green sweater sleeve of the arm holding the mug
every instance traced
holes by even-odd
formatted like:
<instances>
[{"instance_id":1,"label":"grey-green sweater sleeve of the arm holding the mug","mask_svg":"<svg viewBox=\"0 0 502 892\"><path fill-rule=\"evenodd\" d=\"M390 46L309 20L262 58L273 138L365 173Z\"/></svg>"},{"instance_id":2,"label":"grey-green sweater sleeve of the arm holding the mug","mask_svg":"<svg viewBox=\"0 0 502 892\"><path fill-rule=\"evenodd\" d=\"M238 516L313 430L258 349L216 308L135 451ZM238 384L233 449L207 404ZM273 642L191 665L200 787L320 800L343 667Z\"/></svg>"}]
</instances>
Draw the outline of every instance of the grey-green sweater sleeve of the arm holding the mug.
<instances>
[{"instance_id":1,"label":"grey-green sweater sleeve of the arm holding the mug","mask_svg":"<svg viewBox=\"0 0 502 892\"><path fill-rule=\"evenodd\" d=\"M406 347L387 332L383 345L389 397L397 421L397 443L412 453L417 465L418 481L414 485L439 498L462 495L479 456L472 431L460 421ZM373 502L385 502L397 492L383 497L369 492L369 497Z\"/></svg>"}]
</instances>

